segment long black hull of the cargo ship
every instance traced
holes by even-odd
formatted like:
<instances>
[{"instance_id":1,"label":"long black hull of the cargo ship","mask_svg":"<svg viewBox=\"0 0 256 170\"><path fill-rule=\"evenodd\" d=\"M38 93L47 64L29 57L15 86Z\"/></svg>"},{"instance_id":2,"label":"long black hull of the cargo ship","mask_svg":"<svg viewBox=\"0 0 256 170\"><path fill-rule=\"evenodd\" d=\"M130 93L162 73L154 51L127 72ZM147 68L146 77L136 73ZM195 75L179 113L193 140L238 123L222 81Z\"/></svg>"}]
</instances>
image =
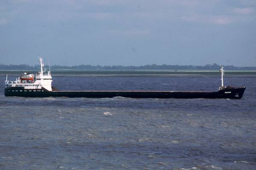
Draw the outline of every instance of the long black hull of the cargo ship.
<instances>
[{"instance_id":1,"label":"long black hull of the cargo ship","mask_svg":"<svg viewBox=\"0 0 256 170\"><path fill-rule=\"evenodd\" d=\"M241 99L245 87L225 88L215 92L204 91L47 91L46 89L24 90L23 87L6 88L5 96L20 97L87 97L87 98L112 98L116 96L129 98L229 98Z\"/></svg>"}]
</instances>

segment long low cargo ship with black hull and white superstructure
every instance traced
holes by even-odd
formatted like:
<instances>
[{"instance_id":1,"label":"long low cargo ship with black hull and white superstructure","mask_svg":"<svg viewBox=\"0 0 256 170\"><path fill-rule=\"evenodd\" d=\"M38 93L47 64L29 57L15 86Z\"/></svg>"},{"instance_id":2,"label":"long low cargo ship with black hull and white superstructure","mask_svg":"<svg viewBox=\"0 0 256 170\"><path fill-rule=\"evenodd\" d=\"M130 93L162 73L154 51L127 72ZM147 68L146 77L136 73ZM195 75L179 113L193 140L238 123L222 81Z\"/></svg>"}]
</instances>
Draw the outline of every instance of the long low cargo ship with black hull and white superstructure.
<instances>
[{"instance_id":1,"label":"long low cargo ship with black hull and white superstructure","mask_svg":"<svg viewBox=\"0 0 256 170\"><path fill-rule=\"evenodd\" d=\"M9 81L6 75L5 96L20 97L87 97L112 98L116 96L129 98L228 98L241 99L245 87L225 87L223 84L224 68L221 66L221 87L218 91L59 91L52 87L51 71L45 71L44 62L38 57L41 71L35 76L31 73L20 75L15 81Z\"/></svg>"}]
</instances>

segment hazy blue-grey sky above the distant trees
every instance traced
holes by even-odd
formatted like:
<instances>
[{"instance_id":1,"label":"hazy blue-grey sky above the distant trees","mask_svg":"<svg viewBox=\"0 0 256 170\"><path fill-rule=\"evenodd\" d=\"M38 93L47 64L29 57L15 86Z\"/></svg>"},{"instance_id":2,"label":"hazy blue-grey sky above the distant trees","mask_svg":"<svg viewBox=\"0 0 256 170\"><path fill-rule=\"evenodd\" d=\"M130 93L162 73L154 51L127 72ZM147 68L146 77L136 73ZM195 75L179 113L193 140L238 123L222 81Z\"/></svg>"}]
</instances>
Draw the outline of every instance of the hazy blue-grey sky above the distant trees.
<instances>
[{"instance_id":1,"label":"hazy blue-grey sky above the distant trees","mask_svg":"<svg viewBox=\"0 0 256 170\"><path fill-rule=\"evenodd\" d=\"M256 66L256 0L0 0L0 63Z\"/></svg>"}]
</instances>

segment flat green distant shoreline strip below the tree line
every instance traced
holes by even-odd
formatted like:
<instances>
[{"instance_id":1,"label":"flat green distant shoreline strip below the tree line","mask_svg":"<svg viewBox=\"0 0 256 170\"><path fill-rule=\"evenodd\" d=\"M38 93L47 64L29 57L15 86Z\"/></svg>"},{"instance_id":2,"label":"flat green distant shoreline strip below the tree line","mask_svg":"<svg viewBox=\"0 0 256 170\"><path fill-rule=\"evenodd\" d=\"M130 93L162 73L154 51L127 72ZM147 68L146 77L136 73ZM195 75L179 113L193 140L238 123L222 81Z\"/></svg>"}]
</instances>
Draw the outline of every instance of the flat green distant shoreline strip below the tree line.
<instances>
[{"instance_id":1,"label":"flat green distant shoreline strip below the tree line","mask_svg":"<svg viewBox=\"0 0 256 170\"><path fill-rule=\"evenodd\" d=\"M24 73L36 74L35 70L23 71L0 71L0 76L19 76ZM183 71L170 71L170 70L86 70L86 71L51 71L53 77L99 77L99 76L173 76L173 77L218 77L218 71L198 71L198 70L183 70ZM225 71L225 77L256 77L256 71Z\"/></svg>"}]
</instances>

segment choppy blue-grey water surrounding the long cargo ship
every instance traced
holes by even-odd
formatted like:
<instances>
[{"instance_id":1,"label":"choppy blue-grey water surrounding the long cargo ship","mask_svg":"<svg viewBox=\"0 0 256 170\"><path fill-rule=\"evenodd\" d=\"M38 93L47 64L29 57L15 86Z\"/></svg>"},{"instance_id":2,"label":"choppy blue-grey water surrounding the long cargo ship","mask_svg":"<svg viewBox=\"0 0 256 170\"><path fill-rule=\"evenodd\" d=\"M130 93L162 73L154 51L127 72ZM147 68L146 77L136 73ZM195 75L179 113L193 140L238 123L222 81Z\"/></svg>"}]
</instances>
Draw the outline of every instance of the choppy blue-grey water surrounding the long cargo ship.
<instances>
[{"instance_id":1,"label":"choppy blue-grey water surrounding the long cargo ship","mask_svg":"<svg viewBox=\"0 0 256 170\"><path fill-rule=\"evenodd\" d=\"M256 78L237 99L5 97L0 169L256 169ZM10 78L10 79L14 79ZM216 91L219 77L54 77L59 90Z\"/></svg>"}]
</instances>

